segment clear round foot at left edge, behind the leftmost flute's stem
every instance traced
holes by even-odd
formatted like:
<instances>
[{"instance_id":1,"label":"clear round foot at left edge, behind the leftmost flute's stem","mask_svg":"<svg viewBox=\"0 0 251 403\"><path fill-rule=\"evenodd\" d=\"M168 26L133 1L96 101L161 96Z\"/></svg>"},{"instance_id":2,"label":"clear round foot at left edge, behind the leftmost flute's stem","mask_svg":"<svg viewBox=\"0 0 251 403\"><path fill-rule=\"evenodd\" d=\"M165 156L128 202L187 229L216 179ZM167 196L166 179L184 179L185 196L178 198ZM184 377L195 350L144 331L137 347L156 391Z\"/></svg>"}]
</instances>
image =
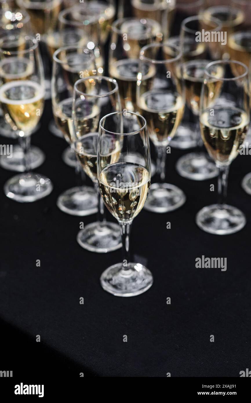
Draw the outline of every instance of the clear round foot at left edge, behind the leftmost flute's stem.
<instances>
[{"instance_id":1,"label":"clear round foot at left edge, behind the leftmost flute's stem","mask_svg":"<svg viewBox=\"0 0 251 403\"><path fill-rule=\"evenodd\" d=\"M31 169L35 169L43 164L45 155L38 147L32 145L28 158ZM8 158L8 156L2 155L0 158L0 166L10 171L24 172L25 166L23 165L22 148L19 145L13 145L12 157Z\"/></svg>"}]
</instances>

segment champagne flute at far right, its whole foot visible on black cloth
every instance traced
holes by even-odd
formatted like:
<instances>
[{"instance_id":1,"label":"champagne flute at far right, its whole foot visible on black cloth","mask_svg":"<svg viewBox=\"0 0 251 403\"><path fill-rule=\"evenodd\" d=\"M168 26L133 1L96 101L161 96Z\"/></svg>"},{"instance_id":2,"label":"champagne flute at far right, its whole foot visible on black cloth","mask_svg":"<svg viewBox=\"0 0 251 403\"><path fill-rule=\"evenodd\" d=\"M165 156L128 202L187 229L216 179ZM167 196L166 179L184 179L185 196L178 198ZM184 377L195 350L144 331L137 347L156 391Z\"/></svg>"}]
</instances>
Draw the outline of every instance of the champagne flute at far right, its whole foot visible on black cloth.
<instances>
[{"instance_id":1,"label":"champagne flute at far right, its whole foot visible on black cloth","mask_svg":"<svg viewBox=\"0 0 251 403\"><path fill-rule=\"evenodd\" d=\"M213 97L215 93L218 95ZM229 104L227 96L232 96L234 106ZM197 225L207 233L228 235L245 226L244 214L227 205L225 197L229 167L239 154L249 121L247 66L236 60L208 64L201 90L200 127L203 143L219 169L219 202L202 208L196 215Z\"/></svg>"}]
</instances>

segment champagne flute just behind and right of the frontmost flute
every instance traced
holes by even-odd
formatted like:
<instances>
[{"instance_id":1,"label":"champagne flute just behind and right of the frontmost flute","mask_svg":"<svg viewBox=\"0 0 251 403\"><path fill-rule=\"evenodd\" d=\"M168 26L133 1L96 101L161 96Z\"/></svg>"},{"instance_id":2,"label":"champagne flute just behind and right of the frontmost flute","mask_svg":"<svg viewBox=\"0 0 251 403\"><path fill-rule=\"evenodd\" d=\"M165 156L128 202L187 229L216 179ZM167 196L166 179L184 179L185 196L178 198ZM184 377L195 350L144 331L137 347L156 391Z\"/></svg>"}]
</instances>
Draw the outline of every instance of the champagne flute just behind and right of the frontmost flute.
<instances>
[{"instance_id":1,"label":"champagne flute just behind and right of the frontmost flute","mask_svg":"<svg viewBox=\"0 0 251 403\"><path fill-rule=\"evenodd\" d=\"M176 56L166 59L166 47ZM182 54L178 47L166 42L144 46L139 59L137 105L156 147L160 176L160 183L151 185L145 209L165 213L182 206L186 200L181 189L165 183L167 146L182 120L185 106L183 83L176 75Z\"/></svg>"}]
</instances>

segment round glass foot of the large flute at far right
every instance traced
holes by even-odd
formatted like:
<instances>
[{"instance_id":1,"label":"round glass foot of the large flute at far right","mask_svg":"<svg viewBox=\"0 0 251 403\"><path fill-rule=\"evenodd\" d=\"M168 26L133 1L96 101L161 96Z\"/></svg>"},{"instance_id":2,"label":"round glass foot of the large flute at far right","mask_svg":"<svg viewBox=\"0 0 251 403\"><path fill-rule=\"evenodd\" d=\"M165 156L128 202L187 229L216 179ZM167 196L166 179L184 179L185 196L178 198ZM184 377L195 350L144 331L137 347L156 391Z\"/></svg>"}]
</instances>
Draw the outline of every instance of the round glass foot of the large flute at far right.
<instances>
[{"instance_id":1,"label":"round glass foot of the large flute at far right","mask_svg":"<svg viewBox=\"0 0 251 403\"><path fill-rule=\"evenodd\" d=\"M236 207L213 204L201 209L195 218L203 231L216 235L229 235L240 231L246 224L244 214Z\"/></svg>"}]
</instances>

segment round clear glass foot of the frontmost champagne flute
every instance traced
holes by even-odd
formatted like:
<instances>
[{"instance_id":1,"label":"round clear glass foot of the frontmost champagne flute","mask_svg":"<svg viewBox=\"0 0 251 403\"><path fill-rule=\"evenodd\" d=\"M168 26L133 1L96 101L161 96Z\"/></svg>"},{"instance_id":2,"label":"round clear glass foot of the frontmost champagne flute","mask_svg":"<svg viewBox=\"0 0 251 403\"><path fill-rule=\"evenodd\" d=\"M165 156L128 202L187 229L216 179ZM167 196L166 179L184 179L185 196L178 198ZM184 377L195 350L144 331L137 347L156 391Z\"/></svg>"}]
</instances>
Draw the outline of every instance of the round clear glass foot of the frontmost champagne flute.
<instances>
[{"instance_id":1,"label":"round clear glass foot of the frontmost champagne flute","mask_svg":"<svg viewBox=\"0 0 251 403\"><path fill-rule=\"evenodd\" d=\"M153 284L153 276L140 263L129 263L124 270L122 263L108 267L101 277L102 288L117 297L134 297L147 291Z\"/></svg>"}]
</instances>

